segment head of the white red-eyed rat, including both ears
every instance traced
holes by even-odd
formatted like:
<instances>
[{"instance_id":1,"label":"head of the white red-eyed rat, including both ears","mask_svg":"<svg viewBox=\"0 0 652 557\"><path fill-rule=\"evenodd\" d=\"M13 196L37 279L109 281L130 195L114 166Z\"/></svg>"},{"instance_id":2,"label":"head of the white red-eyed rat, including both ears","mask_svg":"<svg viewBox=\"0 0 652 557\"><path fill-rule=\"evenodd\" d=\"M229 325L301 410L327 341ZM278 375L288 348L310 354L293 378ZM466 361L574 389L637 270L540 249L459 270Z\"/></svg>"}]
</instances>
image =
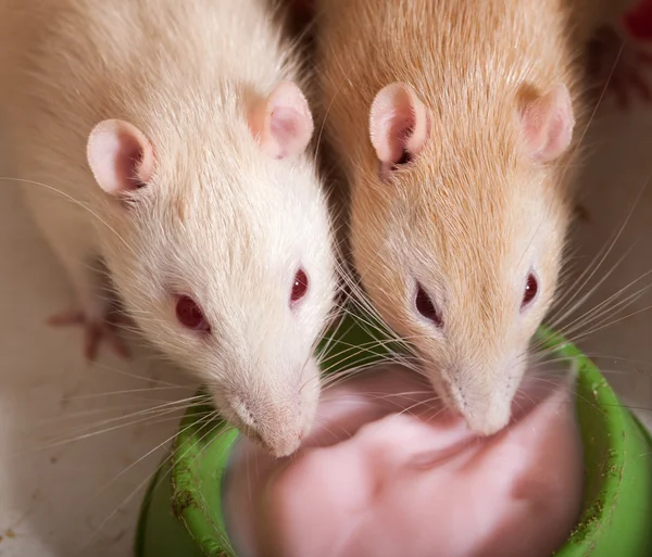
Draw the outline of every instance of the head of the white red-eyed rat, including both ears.
<instances>
[{"instance_id":1,"label":"head of the white red-eyed rat, including both ears","mask_svg":"<svg viewBox=\"0 0 652 557\"><path fill-rule=\"evenodd\" d=\"M313 347L334 304L330 227L301 91L147 132L105 121L88 159L105 195L103 256L127 311L206 385L221 415L271 453L292 453L319 394ZM192 111L190 111L192 112ZM188 118L188 114L184 115Z\"/></svg>"}]
</instances>

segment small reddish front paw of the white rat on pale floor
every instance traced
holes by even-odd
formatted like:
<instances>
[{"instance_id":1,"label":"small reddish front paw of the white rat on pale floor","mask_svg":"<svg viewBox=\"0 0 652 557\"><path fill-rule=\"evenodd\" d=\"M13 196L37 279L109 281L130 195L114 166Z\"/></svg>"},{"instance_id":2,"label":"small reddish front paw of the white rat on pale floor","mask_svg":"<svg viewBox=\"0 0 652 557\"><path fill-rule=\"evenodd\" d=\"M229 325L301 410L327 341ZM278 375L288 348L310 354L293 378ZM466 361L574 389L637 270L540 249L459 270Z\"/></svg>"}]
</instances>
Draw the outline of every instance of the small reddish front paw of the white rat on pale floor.
<instances>
[{"instance_id":1,"label":"small reddish front paw of the white rat on pale floor","mask_svg":"<svg viewBox=\"0 0 652 557\"><path fill-rule=\"evenodd\" d=\"M105 340L120 357L128 359L129 351L117 332L120 325L128 322L129 319L122 315L106 315L103 319L97 320L76 309L55 314L47 320L47 324L52 327L83 326L85 328L84 355L89 362L95 362L97 358L102 340Z\"/></svg>"}]
</instances>

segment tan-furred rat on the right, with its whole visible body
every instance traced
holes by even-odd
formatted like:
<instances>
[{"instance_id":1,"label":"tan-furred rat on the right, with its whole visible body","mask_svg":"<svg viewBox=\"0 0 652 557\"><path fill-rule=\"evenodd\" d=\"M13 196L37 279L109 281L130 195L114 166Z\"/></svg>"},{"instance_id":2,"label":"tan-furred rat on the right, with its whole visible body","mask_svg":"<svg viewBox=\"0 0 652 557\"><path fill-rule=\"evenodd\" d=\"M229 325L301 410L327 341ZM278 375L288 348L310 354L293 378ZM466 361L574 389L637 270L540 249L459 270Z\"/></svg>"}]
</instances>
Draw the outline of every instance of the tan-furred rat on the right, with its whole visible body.
<instances>
[{"instance_id":1,"label":"tan-furred rat on the right, with its whole visible body","mask_svg":"<svg viewBox=\"0 0 652 557\"><path fill-rule=\"evenodd\" d=\"M316 2L355 269L478 433L507 423L557 288L603 1Z\"/></svg>"}]
</instances>

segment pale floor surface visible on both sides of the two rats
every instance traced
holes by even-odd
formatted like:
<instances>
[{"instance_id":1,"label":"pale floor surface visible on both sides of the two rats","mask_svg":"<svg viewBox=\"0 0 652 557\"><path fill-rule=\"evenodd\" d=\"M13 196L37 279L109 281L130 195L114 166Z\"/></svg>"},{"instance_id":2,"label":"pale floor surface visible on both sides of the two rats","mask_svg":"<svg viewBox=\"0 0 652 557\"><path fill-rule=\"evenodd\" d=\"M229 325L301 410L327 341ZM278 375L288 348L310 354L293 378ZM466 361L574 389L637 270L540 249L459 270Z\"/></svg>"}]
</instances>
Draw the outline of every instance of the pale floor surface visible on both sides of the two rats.
<instances>
[{"instance_id":1,"label":"pale floor surface visible on both sides of the two rats","mask_svg":"<svg viewBox=\"0 0 652 557\"><path fill-rule=\"evenodd\" d=\"M575 233L580 269L624 223L652 173L652 119L641 112L602 114L604 122L587 138L595 154L584 189L590 223ZM648 186L593 282L626 249L634 251L585 311L652 269L651 235ZM0 556L131 555L141 486L164 453L155 451L127 467L172 435L176 418L151 418L55 447L48 443L75 436L79 428L90 433L118 426L105 420L152 407L155 401L189 396L192 390L171 390L164 383L188 380L145 351L123 365L103 347L99 363L89 367L82 357L80 330L43 325L48 315L66 307L70 290L22 211L16 186L8 181L0 181ZM652 276L639 286L651 282ZM626 313L650 304L648 293ZM629 404L652 408L650 312L590 334L580 344L595 356L609 356L597 363L609 370ZM135 389L145 391L106 394ZM640 415L652 421L652 413Z\"/></svg>"}]
</instances>

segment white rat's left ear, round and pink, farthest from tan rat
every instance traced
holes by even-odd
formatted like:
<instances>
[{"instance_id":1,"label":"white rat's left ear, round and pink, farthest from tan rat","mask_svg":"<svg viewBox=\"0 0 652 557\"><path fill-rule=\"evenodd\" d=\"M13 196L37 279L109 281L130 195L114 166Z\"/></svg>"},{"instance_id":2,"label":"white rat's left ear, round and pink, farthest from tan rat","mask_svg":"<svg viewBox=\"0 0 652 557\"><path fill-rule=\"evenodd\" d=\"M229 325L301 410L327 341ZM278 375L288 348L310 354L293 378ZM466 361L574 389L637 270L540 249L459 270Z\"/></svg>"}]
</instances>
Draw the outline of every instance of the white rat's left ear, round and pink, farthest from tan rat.
<instances>
[{"instance_id":1,"label":"white rat's left ear, round and pink, farthest from tan rat","mask_svg":"<svg viewBox=\"0 0 652 557\"><path fill-rule=\"evenodd\" d=\"M88 138L87 156L100 188L112 195L138 189L151 178L152 147L145 135L127 122L100 122Z\"/></svg>"}]
</instances>

